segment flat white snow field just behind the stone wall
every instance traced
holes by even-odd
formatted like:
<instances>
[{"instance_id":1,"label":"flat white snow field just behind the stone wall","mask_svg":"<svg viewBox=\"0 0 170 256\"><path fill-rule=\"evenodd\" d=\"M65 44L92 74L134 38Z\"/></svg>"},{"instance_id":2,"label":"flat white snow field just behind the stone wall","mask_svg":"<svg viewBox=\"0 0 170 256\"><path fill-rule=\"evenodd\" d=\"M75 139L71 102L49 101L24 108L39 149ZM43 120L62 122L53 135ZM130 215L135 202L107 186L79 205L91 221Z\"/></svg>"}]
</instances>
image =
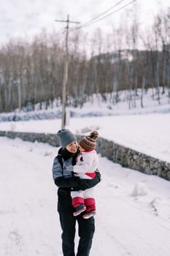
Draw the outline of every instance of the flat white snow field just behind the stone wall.
<instances>
[{"instance_id":1,"label":"flat white snow field just behind the stone wall","mask_svg":"<svg viewBox=\"0 0 170 256\"><path fill-rule=\"evenodd\" d=\"M170 162L170 113L70 118L66 128L77 135L97 129L102 138ZM0 122L0 130L16 132L56 133L58 129L61 119Z\"/></svg>"}]
</instances>

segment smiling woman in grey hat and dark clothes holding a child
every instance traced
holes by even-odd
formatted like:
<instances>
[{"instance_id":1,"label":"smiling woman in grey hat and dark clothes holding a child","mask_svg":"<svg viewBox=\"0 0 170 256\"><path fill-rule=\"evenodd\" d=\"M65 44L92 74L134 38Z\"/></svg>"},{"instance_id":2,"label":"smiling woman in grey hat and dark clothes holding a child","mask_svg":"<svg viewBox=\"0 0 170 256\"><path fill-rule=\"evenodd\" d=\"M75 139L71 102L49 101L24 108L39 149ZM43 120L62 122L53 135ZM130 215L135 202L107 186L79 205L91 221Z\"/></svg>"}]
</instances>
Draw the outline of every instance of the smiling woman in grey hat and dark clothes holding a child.
<instances>
[{"instance_id":1,"label":"smiling woman in grey hat and dark clothes holding a child","mask_svg":"<svg viewBox=\"0 0 170 256\"><path fill-rule=\"evenodd\" d=\"M82 214L77 217L73 216L74 208L70 193L73 190L85 190L94 187L101 181L101 176L98 171L96 171L95 178L90 180L81 180L79 177L72 176L73 165L76 164L76 157L80 153L77 138L69 129L61 129L57 135L62 148L59 149L58 156L53 162L53 179L58 186L58 213L63 230L61 236L63 256L75 256L76 222L78 222L80 236L77 256L88 256L95 230L94 218L83 219Z\"/></svg>"}]
</instances>

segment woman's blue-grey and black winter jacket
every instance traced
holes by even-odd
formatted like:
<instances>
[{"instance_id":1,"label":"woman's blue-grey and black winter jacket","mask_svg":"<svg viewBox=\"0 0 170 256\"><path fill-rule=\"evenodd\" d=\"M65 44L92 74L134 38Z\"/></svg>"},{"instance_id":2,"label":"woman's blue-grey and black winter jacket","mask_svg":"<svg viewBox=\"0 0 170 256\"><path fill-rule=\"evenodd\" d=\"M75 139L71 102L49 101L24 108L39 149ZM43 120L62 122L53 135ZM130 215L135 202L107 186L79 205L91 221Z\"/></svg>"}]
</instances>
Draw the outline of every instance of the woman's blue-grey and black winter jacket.
<instances>
[{"instance_id":1,"label":"woman's blue-grey and black winter jacket","mask_svg":"<svg viewBox=\"0 0 170 256\"><path fill-rule=\"evenodd\" d=\"M58 211L74 211L72 208L72 190L85 190L96 186L101 181L101 174L96 170L96 176L93 179L80 179L72 176L73 165L76 164L77 155L71 154L66 148L60 148L58 156L53 162L53 180L58 187Z\"/></svg>"}]
</instances>

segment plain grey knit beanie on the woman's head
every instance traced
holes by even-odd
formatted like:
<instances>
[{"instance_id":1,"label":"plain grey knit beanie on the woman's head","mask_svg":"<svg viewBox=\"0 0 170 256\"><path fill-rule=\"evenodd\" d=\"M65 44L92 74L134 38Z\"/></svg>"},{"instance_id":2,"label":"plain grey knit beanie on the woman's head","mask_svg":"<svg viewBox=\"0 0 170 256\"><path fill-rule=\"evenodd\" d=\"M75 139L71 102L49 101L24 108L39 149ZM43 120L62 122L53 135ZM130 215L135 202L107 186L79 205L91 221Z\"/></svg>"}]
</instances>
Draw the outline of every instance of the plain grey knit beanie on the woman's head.
<instances>
[{"instance_id":1,"label":"plain grey knit beanie on the woman's head","mask_svg":"<svg viewBox=\"0 0 170 256\"><path fill-rule=\"evenodd\" d=\"M76 136L69 129L60 129L57 135L63 148L66 148L72 141L77 140Z\"/></svg>"}]
</instances>

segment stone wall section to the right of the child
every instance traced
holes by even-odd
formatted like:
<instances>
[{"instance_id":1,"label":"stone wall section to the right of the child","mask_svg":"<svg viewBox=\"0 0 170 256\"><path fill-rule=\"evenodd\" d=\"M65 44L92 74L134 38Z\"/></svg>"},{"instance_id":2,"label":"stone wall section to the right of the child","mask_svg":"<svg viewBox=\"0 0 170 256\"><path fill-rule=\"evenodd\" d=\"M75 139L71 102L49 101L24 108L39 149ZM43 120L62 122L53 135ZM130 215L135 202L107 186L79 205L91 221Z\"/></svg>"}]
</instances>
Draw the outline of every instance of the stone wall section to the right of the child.
<instances>
[{"instance_id":1,"label":"stone wall section to the right of the child","mask_svg":"<svg viewBox=\"0 0 170 256\"><path fill-rule=\"evenodd\" d=\"M123 167L139 170L142 173L160 176L170 181L170 163L140 153L131 148L118 145L113 141L98 138L96 150Z\"/></svg>"}]
</instances>

